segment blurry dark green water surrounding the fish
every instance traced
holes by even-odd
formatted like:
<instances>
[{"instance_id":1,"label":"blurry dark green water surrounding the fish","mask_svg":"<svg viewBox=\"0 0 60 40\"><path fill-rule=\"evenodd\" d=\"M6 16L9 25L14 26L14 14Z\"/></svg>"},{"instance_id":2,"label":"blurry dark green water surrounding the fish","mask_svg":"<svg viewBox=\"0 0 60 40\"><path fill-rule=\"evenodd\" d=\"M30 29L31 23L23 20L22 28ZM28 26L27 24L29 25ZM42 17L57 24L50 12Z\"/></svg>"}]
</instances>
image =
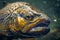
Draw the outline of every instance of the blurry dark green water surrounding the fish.
<instances>
[{"instance_id":1,"label":"blurry dark green water surrounding the fish","mask_svg":"<svg viewBox=\"0 0 60 40\"><path fill-rule=\"evenodd\" d=\"M3 2L28 2L48 15L51 19L50 33L44 37L37 38L37 40L60 40L60 0L0 0L0 9L6 5ZM57 31L56 31L57 30Z\"/></svg>"}]
</instances>

